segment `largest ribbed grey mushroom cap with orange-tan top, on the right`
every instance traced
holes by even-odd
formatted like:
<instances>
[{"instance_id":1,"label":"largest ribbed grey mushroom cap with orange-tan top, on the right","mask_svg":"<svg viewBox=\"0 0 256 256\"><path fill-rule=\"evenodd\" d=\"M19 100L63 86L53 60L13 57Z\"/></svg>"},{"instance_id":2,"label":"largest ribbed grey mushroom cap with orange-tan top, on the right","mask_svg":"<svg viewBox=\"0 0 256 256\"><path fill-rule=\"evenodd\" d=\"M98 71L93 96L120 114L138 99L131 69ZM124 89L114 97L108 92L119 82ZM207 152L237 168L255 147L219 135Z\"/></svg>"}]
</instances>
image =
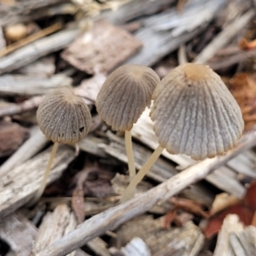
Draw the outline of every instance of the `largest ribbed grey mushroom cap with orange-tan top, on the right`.
<instances>
[{"instance_id":1,"label":"largest ribbed grey mushroom cap with orange-tan top, on the right","mask_svg":"<svg viewBox=\"0 0 256 256\"><path fill-rule=\"evenodd\" d=\"M160 146L194 160L223 154L241 137L241 109L217 73L183 64L162 79L150 116Z\"/></svg>"}]
</instances>

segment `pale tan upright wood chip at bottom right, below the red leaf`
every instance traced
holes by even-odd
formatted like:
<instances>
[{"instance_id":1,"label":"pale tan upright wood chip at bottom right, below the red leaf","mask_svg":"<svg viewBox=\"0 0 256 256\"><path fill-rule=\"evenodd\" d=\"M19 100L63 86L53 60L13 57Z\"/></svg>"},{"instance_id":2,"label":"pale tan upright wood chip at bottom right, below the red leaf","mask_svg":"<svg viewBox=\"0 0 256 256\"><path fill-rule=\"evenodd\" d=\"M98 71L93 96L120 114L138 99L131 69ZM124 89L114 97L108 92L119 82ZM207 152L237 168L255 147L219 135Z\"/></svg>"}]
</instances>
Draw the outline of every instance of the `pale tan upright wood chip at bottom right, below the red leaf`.
<instances>
[{"instance_id":1,"label":"pale tan upright wood chip at bottom right, below the red leaf","mask_svg":"<svg viewBox=\"0 0 256 256\"><path fill-rule=\"evenodd\" d=\"M241 230L243 230L243 224L239 222L239 217L236 214L230 214L224 218L224 223L218 233L218 241L213 255L235 256L236 254L230 245L230 233Z\"/></svg>"}]
</instances>

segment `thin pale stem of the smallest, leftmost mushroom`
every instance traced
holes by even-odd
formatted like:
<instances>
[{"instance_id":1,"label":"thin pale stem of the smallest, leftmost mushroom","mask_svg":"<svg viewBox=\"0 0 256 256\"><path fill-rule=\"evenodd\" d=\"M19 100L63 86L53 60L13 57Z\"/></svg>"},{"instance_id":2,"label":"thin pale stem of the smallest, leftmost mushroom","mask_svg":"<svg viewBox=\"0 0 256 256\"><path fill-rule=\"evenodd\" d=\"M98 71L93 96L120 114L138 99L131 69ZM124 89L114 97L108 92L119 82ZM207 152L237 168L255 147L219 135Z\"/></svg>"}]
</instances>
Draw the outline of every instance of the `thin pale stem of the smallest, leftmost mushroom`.
<instances>
[{"instance_id":1,"label":"thin pale stem of the smallest, leftmost mushroom","mask_svg":"<svg viewBox=\"0 0 256 256\"><path fill-rule=\"evenodd\" d=\"M46 183L47 183L47 179L49 177L49 171L50 171L50 168L52 166L53 160L55 158L55 154L56 154L58 145L59 145L59 143L54 143L54 146L51 149L51 153L50 153L50 156L49 156L49 162L48 162L48 165L46 167L46 171L44 172L43 181L40 185L40 188L36 192L36 195L32 198L32 201L29 202L28 207L32 207L38 201L38 199L41 197L41 195L43 195L43 193L44 193L44 189L45 189L45 186L46 186Z\"/></svg>"}]
</instances>

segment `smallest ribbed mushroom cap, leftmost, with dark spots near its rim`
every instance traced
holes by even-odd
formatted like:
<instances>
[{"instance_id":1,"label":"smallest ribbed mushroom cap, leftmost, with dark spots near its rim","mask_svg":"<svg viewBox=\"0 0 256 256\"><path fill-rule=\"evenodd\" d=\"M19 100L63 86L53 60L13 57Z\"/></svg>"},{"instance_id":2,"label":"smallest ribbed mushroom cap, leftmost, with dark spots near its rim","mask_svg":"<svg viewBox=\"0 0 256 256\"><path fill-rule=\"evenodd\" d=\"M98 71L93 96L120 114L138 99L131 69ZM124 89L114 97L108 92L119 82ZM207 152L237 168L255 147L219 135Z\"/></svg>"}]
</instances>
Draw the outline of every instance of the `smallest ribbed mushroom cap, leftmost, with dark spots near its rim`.
<instances>
[{"instance_id":1,"label":"smallest ribbed mushroom cap, leftmost, with dark spots near its rim","mask_svg":"<svg viewBox=\"0 0 256 256\"><path fill-rule=\"evenodd\" d=\"M90 131L90 109L73 90L65 87L44 97L37 119L45 137L54 143L78 143Z\"/></svg>"}]
</instances>

